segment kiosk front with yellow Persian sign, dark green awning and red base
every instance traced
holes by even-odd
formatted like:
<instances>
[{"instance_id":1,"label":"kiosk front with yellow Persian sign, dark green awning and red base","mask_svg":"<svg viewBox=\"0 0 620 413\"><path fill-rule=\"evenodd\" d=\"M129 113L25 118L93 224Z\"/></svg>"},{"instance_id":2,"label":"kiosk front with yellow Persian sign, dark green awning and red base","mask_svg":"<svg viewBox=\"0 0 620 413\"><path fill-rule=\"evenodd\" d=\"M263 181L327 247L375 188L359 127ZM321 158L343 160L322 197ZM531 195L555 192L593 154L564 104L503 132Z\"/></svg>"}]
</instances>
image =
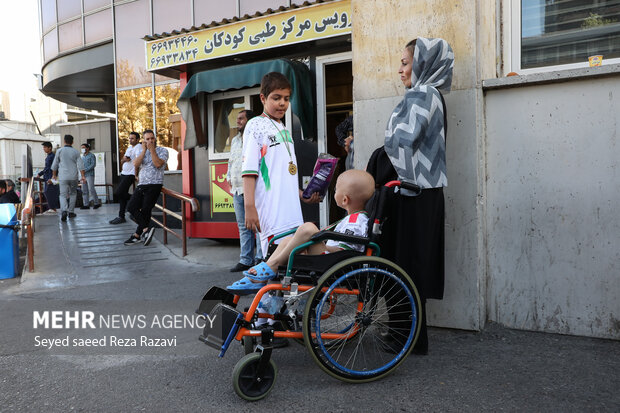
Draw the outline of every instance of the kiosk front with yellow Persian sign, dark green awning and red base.
<instances>
[{"instance_id":1,"label":"kiosk front with yellow Persian sign, dark green awning and red base","mask_svg":"<svg viewBox=\"0 0 620 413\"><path fill-rule=\"evenodd\" d=\"M319 153L346 156L334 130L353 110L351 2L304 4L145 38L148 70L181 81L183 193L201 204L187 217L190 237L238 237L226 180L230 143L240 111L262 113L266 73L284 74L293 89L283 121L294 139L300 188ZM302 203L304 220L332 221L338 212L331 199Z\"/></svg>"}]
</instances>

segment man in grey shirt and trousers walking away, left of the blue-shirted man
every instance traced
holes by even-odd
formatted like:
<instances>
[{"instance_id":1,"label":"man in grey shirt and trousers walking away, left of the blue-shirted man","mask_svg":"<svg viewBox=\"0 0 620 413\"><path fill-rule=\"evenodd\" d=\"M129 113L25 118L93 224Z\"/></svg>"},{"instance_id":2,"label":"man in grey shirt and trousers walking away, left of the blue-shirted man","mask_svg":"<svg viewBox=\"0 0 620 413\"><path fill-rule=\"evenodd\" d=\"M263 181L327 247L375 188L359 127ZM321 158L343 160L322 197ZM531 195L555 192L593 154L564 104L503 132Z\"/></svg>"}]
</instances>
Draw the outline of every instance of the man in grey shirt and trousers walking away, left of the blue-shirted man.
<instances>
[{"instance_id":1,"label":"man in grey shirt and trousers walking away, left of the blue-shirted man","mask_svg":"<svg viewBox=\"0 0 620 413\"><path fill-rule=\"evenodd\" d=\"M75 198L77 196L77 182L82 176L82 183L86 182L84 176L84 163L80 153L73 148L73 136L65 135L65 146L56 151L52 163L52 180L58 178L60 186L60 210L62 221L74 218ZM79 172L78 172L79 171Z\"/></svg>"}]
</instances>

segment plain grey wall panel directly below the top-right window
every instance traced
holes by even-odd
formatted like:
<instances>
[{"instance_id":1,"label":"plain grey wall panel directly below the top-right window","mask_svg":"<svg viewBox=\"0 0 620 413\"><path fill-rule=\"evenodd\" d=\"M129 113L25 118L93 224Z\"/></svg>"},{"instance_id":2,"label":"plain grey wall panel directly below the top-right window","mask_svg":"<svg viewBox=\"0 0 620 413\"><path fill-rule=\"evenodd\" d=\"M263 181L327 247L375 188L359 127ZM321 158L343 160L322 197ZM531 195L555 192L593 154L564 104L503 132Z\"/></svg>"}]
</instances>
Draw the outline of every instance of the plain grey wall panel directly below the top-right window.
<instances>
[{"instance_id":1,"label":"plain grey wall panel directly below the top-right window","mask_svg":"<svg viewBox=\"0 0 620 413\"><path fill-rule=\"evenodd\" d=\"M620 338L620 73L486 95L488 318Z\"/></svg>"}]
</instances>

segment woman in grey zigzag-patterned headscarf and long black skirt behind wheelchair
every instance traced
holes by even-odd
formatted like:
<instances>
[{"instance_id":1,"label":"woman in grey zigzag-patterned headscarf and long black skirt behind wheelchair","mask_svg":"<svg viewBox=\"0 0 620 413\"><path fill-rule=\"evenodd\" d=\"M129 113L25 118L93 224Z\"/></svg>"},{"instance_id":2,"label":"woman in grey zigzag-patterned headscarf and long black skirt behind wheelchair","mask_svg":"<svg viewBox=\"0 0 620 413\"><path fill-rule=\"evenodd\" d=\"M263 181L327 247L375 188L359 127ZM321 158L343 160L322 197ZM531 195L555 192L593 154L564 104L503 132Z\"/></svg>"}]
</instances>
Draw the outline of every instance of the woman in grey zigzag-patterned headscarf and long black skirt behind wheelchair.
<instances>
[{"instance_id":1,"label":"woman in grey zigzag-patterned headscarf and long black skirt behind wheelchair","mask_svg":"<svg viewBox=\"0 0 620 413\"><path fill-rule=\"evenodd\" d=\"M418 37L402 52L400 79L406 91L385 131L385 145L372 154L367 170L378 186L406 180L422 188L418 196L394 195L381 250L415 282L422 301L422 328L413 349L428 353L426 299L442 299L444 289L444 195L446 111L440 91L452 83L454 53L443 39Z\"/></svg>"}]
</instances>

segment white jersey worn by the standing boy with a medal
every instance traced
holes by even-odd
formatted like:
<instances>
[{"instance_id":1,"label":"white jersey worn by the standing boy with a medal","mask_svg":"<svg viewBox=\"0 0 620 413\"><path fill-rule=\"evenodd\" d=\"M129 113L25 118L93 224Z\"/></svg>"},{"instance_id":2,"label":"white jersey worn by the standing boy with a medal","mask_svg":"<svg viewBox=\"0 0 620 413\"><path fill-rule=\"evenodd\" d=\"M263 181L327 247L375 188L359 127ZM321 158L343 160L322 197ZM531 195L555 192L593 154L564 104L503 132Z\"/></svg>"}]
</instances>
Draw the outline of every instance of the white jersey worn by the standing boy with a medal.
<instances>
[{"instance_id":1,"label":"white jersey worn by the standing boy with a medal","mask_svg":"<svg viewBox=\"0 0 620 413\"><path fill-rule=\"evenodd\" d=\"M257 176L254 202L261 227L261 247L265 253L269 237L303 224L298 172L289 173L289 162L297 166L295 147L290 133L285 134L284 130L282 123L257 116L248 121L243 132L241 175ZM263 159L265 162L261 167Z\"/></svg>"}]
</instances>

